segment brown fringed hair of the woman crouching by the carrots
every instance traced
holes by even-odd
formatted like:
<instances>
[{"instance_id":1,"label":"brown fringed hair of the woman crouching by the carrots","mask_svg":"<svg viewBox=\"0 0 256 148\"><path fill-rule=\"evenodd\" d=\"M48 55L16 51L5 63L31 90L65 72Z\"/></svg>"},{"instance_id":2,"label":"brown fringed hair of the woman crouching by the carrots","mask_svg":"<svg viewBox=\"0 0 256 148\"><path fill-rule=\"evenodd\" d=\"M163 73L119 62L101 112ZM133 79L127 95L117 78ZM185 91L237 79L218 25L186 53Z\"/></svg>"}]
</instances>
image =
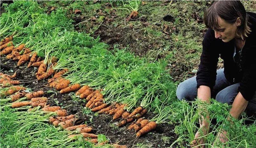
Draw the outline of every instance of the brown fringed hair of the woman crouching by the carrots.
<instances>
[{"instance_id":1,"label":"brown fringed hair of the woman crouching by the carrots","mask_svg":"<svg viewBox=\"0 0 256 148\"><path fill-rule=\"evenodd\" d=\"M218 16L226 22L233 24L237 18L241 19L241 26L237 27L236 35L244 38L252 31L249 27L248 16L244 5L240 1L215 1L204 12L204 24L207 28L219 28Z\"/></svg>"}]
</instances>

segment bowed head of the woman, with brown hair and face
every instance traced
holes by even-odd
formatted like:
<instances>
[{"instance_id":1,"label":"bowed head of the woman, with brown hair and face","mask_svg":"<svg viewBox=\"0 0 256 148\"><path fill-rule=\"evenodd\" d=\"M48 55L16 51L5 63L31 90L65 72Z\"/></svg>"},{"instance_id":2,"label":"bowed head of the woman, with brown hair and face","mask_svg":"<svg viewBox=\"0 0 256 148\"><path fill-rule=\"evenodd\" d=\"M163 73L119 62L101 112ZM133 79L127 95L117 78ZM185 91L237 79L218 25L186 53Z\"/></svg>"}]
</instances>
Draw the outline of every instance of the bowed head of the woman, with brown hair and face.
<instances>
[{"instance_id":1,"label":"bowed head of the woman, with brown hair and face","mask_svg":"<svg viewBox=\"0 0 256 148\"><path fill-rule=\"evenodd\" d=\"M248 17L240 1L215 1L204 12L204 23L215 32L215 37L229 42L234 38L243 40L251 32Z\"/></svg>"}]
</instances>

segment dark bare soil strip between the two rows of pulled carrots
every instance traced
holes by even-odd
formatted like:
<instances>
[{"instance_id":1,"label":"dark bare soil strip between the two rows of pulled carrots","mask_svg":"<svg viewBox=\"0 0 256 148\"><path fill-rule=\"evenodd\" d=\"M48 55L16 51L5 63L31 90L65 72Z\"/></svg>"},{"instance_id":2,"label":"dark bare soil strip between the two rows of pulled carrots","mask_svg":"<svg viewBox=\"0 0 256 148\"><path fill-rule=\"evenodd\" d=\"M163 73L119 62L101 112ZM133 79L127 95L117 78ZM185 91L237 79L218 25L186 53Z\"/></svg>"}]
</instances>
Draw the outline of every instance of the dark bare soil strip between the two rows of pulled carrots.
<instances>
[{"instance_id":1,"label":"dark bare soil strip between the two rows of pulled carrots","mask_svg":"<svg viewBox=\"0 0 256 148\"><path fill-rule=\"evenodd\" d=\"M124 127L117 127L117 123L121 119L113 121L110 115L101 114L88 115L85 113L85 103L80 99L73 99L74 93L60 94L53 88L47 86L47 80L38 81L36 79L36 67L24 66L17 67L17 62L4 59L1 57L1 72L4 74L17 73L15 80L20 80L24 87L30 88L31 91L43 90L46 92L44 97L48 98L47 104L50 106L61 106L68 111L68 114L76 114L79 120L75 125L82 124L83 122L91 125L95 134L104 134L109 138L109 143L118 143L126 145L127 147L138 147L140 144L147 145L147 147L169 147L175 140L177 135L174 133L173 124L159 124L157 128L146 135L136 138L134 130L127 130L129 124ZM151 119L154 116L152 113L147 113L144 118ZM175 147L178 145L174 145Z\"/></svg>"}]
</instances>

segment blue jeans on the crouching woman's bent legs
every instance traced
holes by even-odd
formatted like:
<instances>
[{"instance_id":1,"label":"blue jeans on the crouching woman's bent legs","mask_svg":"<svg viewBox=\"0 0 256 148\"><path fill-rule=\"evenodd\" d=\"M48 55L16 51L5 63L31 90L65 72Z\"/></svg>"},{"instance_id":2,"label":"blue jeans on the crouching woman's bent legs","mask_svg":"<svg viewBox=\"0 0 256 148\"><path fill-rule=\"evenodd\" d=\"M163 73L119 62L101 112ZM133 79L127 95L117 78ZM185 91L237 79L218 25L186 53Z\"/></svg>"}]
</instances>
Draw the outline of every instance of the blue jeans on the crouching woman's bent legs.
<instances>
[{"instance_id":1,"label":"blue jeans on the crouching woman's bent legs","mask_svg":"<svg viewBox=\"0 0 256 148\"><path fill-rule=\"evenodd\" d=\"M197 97L196 85L196 76L181 82L176 90L177 98L179 100L194 101ZM224 68L219 69L217 70L215 86L213 86L211 90L211 97L215 98L220 103L228 103L231 105L238 94L239 85L240 83L232 85L228 82L224 75ZM252 100L248 102L246 112L250 116L256 112L256 92ZM250 112L252 112L252 114Z\"/></svg>"}]
</instances>

